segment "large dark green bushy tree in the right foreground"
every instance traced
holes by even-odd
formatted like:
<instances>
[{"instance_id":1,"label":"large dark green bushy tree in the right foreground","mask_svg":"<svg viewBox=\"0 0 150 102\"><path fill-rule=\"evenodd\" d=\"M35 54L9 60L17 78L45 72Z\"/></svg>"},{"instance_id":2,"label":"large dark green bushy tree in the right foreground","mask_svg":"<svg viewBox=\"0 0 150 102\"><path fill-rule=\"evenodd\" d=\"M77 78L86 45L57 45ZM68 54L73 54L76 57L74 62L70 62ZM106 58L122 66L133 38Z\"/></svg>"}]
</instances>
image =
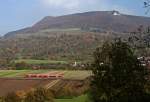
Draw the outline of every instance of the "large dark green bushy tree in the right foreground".
<instances>
[{"instance_id":1,"label":"large dark green bushy tree in the right foreground","mask_svg":"<svg viewBox=\"0 0 150 102\"><path fill-rule=\"evenodd\" d=\"M103 57L104 56L104 57ZM91 99L94 102L143 102L147 70L120 39L94 53ZM149 100L150 101L150 100Z\"/></svg>"}]
</instances>

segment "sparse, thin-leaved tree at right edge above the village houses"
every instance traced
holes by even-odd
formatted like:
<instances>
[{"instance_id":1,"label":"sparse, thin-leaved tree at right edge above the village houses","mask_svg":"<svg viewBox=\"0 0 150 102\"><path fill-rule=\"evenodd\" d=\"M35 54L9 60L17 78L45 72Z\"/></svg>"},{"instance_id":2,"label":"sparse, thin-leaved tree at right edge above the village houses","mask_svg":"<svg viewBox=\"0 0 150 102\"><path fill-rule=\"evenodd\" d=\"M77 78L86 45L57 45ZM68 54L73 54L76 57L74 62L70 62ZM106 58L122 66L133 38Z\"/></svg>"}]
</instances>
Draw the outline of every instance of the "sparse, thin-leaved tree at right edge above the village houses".
<instances>
[{"instance_id":1,"label":"sparse, thin-leaved tree at right edge above the village houses","mask_svg":"<svg viewBox=\"0 0 150 102\"><path fill-rule=\"evenodd\" d=\"M137 31L131 32L128 44L134 48L138 56L150 55L150 27L140 26ZM144 52L144 53L143 53Z\"/></svg>"}]
</instances>

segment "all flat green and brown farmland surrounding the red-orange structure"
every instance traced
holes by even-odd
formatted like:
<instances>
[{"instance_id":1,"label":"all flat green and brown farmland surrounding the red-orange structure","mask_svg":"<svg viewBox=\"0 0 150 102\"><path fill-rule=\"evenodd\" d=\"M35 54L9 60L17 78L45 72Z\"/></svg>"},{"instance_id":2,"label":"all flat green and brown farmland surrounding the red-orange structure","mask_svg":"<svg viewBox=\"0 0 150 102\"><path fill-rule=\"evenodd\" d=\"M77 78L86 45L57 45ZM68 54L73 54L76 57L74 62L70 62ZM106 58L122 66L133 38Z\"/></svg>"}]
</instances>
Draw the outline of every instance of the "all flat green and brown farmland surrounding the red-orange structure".
<instances>
[{"instance_id":1,"label":"all flat green and brown farmland surrounding the red-orange structure","mask_svg":"<svg viewBox=\"0 0 150 102\"><path fill-rule=\"evenodd\" d=\"M27 74L64 73L61 79L26 78ZM68 70L0 70L0 96L9 92L29 91L32 88L44 87L59 91L64 86L78 86L91 76L91 71ZM82 84L81 84L82 85ZM59 100L58 100L59 101Z\"/></svg>"}]
</instances>

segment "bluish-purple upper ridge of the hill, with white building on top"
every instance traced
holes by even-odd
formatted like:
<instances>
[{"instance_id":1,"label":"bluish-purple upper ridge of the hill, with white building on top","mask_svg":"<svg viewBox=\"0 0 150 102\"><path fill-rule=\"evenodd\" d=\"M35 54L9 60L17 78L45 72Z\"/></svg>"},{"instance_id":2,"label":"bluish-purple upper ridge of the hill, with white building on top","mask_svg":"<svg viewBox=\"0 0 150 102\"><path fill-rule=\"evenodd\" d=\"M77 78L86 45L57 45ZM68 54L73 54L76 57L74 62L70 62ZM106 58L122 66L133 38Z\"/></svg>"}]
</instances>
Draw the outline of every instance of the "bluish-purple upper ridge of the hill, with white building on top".
<instances>
[{"instance_id":1,"label":"bluish-purple upper ridge of the hill, with white building on top","mask_svg":"<svg viewBox=\"0 0 150 102\"><path fill-rule=\"evenodd\" d=\"M118 11L95 11L58 17L48 16L32 27L10 32L6 34L6 36L19 33L36 33L43 29L54 28L97 28L103 31L129 32L135 31L140 25L150 26L150 18L124 15Z\"/></svg>"}]
</instances>

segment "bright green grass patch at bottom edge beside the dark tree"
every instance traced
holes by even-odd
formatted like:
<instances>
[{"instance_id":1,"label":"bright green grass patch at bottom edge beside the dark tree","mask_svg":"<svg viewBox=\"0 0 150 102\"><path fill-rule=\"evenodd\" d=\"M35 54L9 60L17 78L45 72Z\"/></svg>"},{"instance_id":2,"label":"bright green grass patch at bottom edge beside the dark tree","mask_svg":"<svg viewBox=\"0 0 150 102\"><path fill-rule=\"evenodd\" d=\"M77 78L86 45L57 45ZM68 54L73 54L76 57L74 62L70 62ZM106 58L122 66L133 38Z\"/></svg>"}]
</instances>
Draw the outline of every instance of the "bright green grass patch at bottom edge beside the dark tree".
<instances>
[{"instance_id":1,"label":"bright green grass patch at bottom edge beside the dark tree","mask_svg":"<svg viewBox=\"0 0 150 102\"><path fill-rule=\"evenodd\" d=\"M82 95L73 99L56 99L55 102L87 102L87 95Z\"/></svg>"}]
</instances>

